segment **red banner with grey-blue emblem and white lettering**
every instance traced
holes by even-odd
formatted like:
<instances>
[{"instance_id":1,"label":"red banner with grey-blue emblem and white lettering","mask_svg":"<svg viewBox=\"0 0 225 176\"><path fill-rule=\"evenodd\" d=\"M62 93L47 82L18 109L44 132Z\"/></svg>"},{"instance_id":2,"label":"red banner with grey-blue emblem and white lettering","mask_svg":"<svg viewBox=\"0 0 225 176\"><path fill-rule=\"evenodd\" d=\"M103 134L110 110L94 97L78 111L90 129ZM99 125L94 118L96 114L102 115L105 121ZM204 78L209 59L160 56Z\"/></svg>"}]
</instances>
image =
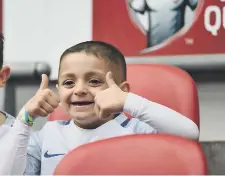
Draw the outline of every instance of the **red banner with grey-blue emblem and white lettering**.
<instances>
[{"instance_id":1,"label":"red banner with grey-blue emblem and white lettering","mask_svg":"<svg viewBox=\"0 0 225 176\"><path fill-rule=\"evenodd\" d=\"M223 6L225 0L93 0L93 39L125 56L225 53Z\"/></svg>"}]
</instances>

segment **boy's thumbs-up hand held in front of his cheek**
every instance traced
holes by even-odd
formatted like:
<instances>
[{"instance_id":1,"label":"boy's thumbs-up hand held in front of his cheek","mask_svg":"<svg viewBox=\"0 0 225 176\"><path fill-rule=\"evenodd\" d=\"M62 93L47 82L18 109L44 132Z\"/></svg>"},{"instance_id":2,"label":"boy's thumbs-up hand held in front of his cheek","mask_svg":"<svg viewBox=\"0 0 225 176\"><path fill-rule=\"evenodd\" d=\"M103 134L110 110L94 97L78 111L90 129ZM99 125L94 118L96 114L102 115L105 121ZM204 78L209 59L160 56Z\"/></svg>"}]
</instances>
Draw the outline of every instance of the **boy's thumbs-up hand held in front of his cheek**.
<instances>
[{"instance_id":1,"label":"boy's thumbs-up hand held in front of his cheek","mask_svg":"<svg viewBox=\"0 0 225 176\"><path fill-rule=\"evenodd\" d=\"M100 119L122 112L128 94L115 83L111 72L107 73L106 82L108 88L95 95L95 112Z\"/></svg>"}]
</instances>

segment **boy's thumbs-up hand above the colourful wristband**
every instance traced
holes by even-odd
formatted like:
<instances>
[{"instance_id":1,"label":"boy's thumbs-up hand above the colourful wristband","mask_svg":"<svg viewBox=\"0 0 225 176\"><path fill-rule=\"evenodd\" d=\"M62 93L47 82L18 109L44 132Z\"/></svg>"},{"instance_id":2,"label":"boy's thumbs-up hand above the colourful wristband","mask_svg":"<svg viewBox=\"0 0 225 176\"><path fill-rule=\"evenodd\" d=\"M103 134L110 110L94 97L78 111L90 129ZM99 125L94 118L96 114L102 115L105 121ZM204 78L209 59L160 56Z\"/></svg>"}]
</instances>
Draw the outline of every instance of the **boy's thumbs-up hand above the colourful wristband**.
<instances>
[{"instance_id":1,"label":"boy's thumbs-up hand above the colourful wristband","mask_svg":"<svg viewBox=\"0 0 225 176\"><path fill-rule=\"evenodd\" d=\"M48 88L48 76L43 74L39 90L24 108L32 117L45 117L52 113L59 105L58 96Z\"/></svg>"}]
</instances>

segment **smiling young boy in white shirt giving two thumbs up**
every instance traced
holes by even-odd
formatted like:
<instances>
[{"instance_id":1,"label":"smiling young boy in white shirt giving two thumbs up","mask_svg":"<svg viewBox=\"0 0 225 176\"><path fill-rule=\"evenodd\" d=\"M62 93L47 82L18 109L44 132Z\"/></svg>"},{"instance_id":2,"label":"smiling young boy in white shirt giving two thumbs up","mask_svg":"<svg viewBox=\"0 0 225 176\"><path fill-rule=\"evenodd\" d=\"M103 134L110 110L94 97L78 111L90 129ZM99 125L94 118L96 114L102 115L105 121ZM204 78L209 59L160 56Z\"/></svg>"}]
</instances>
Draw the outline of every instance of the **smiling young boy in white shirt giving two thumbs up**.
<instances>
[{"instance_id":1,"label":"smiling young boy in white shirt giving two thumbs up","mask_svg":"<svg viewBox=\"0 0 225 176\"><path fill-rule=\"evenodd\" d=\"M72 149L115 136L169 133L198 139L198 127L190 119L129 93L124 56L107 43L88 41L67 49L60 58L57 88L59 97L48 89L48 78L43 75L40 89L19 113L12 129L20 127L23 135L17 142L23 141L24 148L10 158L11 173L50 175ZM58 105L72 120L47 122L30 136L33 118L48 115ZM123 111L136 118L128 119ZM10 141L12 137L4 145L13 145Z\"/></svg>"}]
</instances>

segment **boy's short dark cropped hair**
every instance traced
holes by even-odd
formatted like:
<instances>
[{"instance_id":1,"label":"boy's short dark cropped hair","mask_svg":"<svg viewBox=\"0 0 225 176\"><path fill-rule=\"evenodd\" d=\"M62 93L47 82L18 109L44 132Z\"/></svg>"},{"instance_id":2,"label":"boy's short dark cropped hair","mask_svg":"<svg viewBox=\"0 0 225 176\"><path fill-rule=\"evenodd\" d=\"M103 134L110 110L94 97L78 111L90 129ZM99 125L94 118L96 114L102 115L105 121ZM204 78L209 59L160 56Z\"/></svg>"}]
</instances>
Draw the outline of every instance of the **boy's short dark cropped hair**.
<instances>
[{"instance_id":1,"label":"boy's short dark cropped hair","mask_svg":"<svg viewBox=\"0 0 225 176\"><path fill-rule=\"evenodd\" d=\"M115 64L117 67L116 71L121 72L122 81L126 80L127 68L123 54L116 47L102 41L86 41L66 49L60 57L59 72L63 57L67 54L78 52L92 54L98 58L103 58L110 63Z\"/></svg>"}]
</instances>

